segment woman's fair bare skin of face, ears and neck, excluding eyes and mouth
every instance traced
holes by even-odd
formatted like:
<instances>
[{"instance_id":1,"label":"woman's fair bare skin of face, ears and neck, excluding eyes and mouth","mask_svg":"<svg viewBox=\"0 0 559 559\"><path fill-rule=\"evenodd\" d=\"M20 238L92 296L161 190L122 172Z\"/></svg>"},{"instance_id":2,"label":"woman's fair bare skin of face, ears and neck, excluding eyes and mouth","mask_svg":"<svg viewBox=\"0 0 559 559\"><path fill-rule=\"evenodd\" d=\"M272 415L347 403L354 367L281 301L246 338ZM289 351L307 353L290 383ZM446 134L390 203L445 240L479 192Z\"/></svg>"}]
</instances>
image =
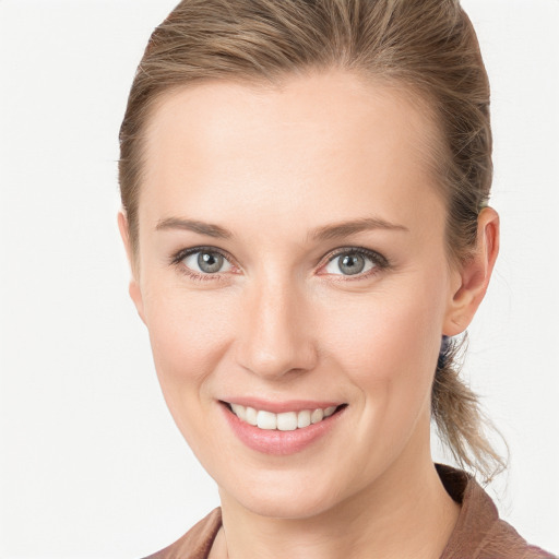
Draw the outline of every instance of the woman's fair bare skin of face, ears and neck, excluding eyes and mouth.
<instances>
[{"instance_id":1,"label":"woman's fair bare skin of face, ears and neck, excluding eyes and mouth","mask_svg":"<svg viewBox=\"0 0 559 559\"><path fill-rule=\"evenodd\" d=\"M481 212L473 258L452 265L428 165L435 136L406 96L342 71L274 88L211 82L154 111L138 253L122 214L119 224L167 405L219 487L211 557L442 552L460 508L430 456L430 386L441 335L462 332L486 292L498 216ZM313 235L366 218L397 227ZM201 246L230 265L200 280L195 259L171 263ZM343 275L329 260L348 247L383 264ZM224 420L218 401L231 396L347 407L328 437L265 455Z\"/></svg>"}]
</instances>

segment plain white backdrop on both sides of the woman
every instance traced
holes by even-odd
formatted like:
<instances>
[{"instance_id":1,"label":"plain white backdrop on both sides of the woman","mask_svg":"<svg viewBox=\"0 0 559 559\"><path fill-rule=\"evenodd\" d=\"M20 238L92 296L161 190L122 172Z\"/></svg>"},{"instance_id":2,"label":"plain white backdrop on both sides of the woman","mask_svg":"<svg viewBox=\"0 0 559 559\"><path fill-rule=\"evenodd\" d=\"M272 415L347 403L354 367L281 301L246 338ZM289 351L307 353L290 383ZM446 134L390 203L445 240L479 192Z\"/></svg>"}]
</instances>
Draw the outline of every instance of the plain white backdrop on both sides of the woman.
<instances>
[{"instance_id":1,"label":"plain white backdrop on both sides of the woman","mask_svg":"<svg viewBox=\"0 0 559 559\"><path fill-rule=\"evenodd\" d=\"M468 0L492 83L502 250L465 376L506 436L504 519L559 551L559 2ZM0 0L0 557L134 558L217 491L127 294L117 133L175 0ZM438 454L438 453L437 453Z\"/></svg>"}]
</instances>

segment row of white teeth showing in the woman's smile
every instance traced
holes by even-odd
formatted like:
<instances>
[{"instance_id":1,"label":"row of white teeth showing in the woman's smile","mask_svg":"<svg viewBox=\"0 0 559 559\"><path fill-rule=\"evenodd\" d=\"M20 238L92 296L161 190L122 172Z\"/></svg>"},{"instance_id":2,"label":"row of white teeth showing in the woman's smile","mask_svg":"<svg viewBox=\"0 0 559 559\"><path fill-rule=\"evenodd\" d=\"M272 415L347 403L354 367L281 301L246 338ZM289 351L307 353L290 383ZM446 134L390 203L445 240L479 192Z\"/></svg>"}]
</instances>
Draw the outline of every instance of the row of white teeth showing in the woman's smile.
<instances>
[{"instance_id":1,"label":"row of white teeth showing in the woman's smile","mask_svg":"<svg viewBox=\"0 0 559 559\"><path fill-rule=\"evenodd\" d=\"M259 429L280 431L295 431L295 429L304 429L311 424L318 424L330 417L337 406L330 406L325 409L302 409L300 412L284 412L274 414L264 409L254 409L253 407L245 407L240 404L230 404L233 413L242 421L257 426Z\"/></svg>"}]
</instances>

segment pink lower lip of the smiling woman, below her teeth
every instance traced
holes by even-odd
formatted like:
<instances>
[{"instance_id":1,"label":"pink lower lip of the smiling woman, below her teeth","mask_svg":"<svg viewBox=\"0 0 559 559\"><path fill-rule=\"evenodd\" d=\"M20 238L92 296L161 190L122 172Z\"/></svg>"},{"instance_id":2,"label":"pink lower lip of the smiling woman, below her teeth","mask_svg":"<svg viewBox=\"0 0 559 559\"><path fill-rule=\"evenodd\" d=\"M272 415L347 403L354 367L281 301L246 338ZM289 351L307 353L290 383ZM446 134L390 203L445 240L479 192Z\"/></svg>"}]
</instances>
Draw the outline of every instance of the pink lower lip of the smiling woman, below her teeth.
<instances>
[{"instance_id":1,"label":"pink lower lip of the smiling woman, below her teeth","mask_svg":"<svg viewBox=\"0 0 559 559\"><path fill-rule=\"evenodd\" d=\"M338 409L336 413L322 419L318 424L311 424L302 429L295 429L294 431L280 431L272 429L259 429L253 425L241 421L225 404L221 404L225 418L229 424L233 432L243 442L249 449L255 450L263 454L274 454L285 456L301 452L319 439L330 432L340 417L345 411L345 407Z\"/></svg>"}]
</instances>

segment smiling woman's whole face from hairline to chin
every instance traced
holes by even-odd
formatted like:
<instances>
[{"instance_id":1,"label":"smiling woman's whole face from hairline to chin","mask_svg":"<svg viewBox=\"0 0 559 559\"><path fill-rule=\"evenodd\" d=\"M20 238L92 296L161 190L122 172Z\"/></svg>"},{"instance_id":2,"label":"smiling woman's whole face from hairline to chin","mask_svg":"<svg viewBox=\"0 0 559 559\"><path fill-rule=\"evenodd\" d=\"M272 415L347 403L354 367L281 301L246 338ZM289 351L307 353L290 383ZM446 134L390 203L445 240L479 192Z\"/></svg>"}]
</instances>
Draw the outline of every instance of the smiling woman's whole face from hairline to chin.
<instances>
[{"instance_id":1,"label":"smiling woman's whole face from hairline to chin","mask_svg":"<svg viewBox=\"0 0 559 559\"><path fill-rule=\"evenodd\" d=\"M429 460L461 282L432 135L404 96L336 72L207 83L155 110L131 294L230 502L308 518Z\"/></svg>"}]
</instances>

